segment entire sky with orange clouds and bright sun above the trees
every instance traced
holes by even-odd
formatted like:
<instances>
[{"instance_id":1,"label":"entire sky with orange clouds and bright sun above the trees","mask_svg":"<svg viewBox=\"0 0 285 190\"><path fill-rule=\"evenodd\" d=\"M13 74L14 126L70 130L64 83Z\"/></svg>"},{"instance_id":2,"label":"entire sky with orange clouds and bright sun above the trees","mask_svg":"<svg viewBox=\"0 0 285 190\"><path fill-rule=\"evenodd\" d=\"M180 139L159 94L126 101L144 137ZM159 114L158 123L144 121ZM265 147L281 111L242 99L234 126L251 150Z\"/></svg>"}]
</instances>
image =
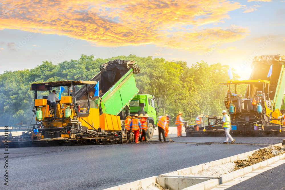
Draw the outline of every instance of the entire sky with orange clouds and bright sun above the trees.
<instances>
[{"instance_id":1,"label":"entire sky with orange clouds and bright sun above the trees","mask_svg":"<svg viewBox=\"0 0 285 190\"><path fill-rule=\"evenodd\" d=\"M248 79L254 56L285 54L285 1L0 1L0 74L81 54L203 60Z\"/></svg>"}]
</instances>

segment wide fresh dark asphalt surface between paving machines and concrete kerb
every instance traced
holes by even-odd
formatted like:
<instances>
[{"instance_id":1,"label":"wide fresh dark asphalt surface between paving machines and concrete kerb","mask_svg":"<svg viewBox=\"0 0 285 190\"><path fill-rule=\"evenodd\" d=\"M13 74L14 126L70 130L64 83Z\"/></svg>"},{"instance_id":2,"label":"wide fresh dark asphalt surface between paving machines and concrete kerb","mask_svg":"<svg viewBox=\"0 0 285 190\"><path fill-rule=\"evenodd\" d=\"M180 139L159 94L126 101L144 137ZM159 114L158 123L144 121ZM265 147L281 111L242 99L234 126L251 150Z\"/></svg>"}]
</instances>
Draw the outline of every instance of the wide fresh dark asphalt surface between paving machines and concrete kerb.
<instances>
[{"instance_id":1,"label":"wide fresh dark asphalt surface between paving machines and concrete kerb","mask_svg":"<svg viewBox=\"0 0 285 190\"><path fill-rule=\"evenodd\" d=\"M282 137L180 137L175 142L9 148L9 186L0 189L105 189L282 142Z\"/></svg>"}]
</instances>

